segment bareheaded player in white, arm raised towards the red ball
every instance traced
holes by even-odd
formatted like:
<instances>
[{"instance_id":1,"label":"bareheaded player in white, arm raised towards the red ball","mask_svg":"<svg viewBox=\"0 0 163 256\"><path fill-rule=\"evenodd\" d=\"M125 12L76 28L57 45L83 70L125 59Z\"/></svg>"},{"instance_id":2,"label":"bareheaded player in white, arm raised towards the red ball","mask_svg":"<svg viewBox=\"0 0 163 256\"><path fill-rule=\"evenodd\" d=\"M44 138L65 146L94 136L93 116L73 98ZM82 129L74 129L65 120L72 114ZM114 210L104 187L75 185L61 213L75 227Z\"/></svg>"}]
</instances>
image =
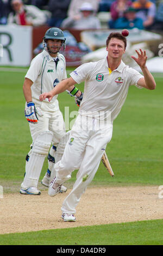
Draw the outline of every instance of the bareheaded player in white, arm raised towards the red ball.
<instances>
[{"instance_id":1,"label":"bareheaded player in white, arm raised towards the red ball","mask_svg":"<svg viewBox=\"0 0 163 256\"><path fill-rule=\"evenodd\" d=\"M153 90L154 78L146 66L146 51L136 50L131 56L142 70L141 75L122 61L127 40L121 33L112 32L106 40L107 57L85 63L71 72L51 92L40 95L40 101L53 99L74 84L85 81L79 115L72 127L62 159L54 164L56 178L49 185L49 196L59 193L61 185L78 169L72 191L62 203L62 219L76 221L76 206L86 187L96 174L106 145L112 137L112 124L126 100L130 86Z\"/></svg>"}]
</instances>

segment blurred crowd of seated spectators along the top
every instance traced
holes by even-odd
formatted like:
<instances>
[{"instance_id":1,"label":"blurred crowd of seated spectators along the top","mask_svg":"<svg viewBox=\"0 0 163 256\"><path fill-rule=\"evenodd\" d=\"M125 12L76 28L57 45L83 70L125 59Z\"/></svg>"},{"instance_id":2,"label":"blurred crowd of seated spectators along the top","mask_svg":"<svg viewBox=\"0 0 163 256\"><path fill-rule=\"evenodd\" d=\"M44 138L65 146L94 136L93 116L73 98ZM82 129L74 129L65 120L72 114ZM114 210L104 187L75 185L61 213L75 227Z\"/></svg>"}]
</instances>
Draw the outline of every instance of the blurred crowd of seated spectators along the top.
<instances>
[{"instance_id":1,"label":"blurred crowd of seated spectators along the top","mask_svg":"<svg viewBox=\"0 0 163 256\"><path fill-rule=\"evenodd\" d=\"M163 29L163 0L0 0L0 25L100 29Z\"/></svg>"}]
</instances>

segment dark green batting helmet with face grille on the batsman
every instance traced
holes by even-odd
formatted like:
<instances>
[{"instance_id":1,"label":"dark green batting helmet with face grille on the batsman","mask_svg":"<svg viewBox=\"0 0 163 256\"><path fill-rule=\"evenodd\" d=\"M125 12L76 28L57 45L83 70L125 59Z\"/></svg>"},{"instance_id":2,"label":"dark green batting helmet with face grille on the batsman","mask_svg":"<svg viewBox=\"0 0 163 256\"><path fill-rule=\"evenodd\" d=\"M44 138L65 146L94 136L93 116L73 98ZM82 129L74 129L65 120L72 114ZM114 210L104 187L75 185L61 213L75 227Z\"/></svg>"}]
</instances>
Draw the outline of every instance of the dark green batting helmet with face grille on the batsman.
<instances>
[{"instance_id":1,"label":"dark green batting helmet with face grille on the batsman","mask_svg":"<svg viewBox=\"0 0 163 256\"><path fill-rule=\"evenodd\" d=\"M49 28L46 31L45 36L43 36L43 47L45 48L46 51L48 51L47 43L46 43L47 39L60 39L62 42L62 46L64 47L64 50L65 50L66 38L60 28Z\"/></svg>"}]
</instances>

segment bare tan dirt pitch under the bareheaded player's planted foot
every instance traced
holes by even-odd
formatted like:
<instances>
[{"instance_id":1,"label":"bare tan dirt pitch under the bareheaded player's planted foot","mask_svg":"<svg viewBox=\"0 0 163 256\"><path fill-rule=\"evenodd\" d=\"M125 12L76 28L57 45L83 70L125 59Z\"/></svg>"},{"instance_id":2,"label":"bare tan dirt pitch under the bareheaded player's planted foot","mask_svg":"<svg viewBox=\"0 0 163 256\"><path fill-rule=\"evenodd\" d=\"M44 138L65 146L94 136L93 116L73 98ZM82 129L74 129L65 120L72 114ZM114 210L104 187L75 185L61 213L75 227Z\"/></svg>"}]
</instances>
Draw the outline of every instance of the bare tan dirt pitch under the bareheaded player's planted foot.
<instances>
[{"instance_id":1,"label":"bare tan dirt pitch under the bareheaded player's planted foot","mask_svg":"<svg viewBox=\"0 0 163 256\"><path fill-rule=\"evenodd\" d=\"M70 192L49 197L19 193L0 199L0 234L60 229L163 218L158 186L87 188L77 206L76 222L61 219L61 204Z\"/></svg>"}]
</instances>

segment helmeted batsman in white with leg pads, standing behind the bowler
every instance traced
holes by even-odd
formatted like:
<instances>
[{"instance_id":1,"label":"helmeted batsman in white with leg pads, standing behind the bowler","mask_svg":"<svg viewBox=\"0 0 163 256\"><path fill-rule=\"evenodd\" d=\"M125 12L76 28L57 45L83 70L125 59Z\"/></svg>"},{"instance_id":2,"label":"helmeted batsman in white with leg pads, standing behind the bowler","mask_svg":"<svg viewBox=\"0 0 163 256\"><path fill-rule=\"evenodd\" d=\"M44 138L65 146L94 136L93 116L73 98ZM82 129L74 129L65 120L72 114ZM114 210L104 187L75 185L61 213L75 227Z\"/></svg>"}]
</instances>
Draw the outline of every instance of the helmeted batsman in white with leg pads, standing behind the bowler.
<instances>
[{"instance_id":1,"label":"helmeted batsman in white with leg pads, standing behind the bowler","mask_svg":"<svg viewBox=\"0 0 163 256\"><path fill-rule=\"evenodd\" d=\"M47 155L48 170L42 184L49 185L53 164L61 159L65 141L69 136L65 131L64 119L59 109L58 95L53 97L51 102L39 100L41 93L52 90L57 83L67 78L65 57L59 53L61 49L64 51L65 41L61 29L49 28L43 36L44 49L32 60L24 79L24 113L29 123L32 145L26 157L26 172L21 184L21 194L41 194L37 184ZM74 86L70 87L68 92L76 97L82 96L82 92ZM62 186L60 192L66 190L67 188Z\"/></svg>"}]
</instances>

